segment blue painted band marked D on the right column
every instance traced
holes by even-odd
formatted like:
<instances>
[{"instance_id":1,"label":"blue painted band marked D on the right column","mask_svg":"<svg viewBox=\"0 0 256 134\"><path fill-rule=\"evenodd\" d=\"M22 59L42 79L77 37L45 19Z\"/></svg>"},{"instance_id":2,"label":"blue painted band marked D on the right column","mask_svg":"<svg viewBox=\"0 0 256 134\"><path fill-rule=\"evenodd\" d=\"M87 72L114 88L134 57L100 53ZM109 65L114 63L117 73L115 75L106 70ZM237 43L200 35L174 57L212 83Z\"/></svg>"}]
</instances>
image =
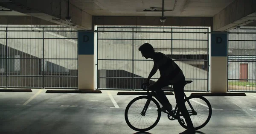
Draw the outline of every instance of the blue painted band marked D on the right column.
<instances>
[{"instance_id":1,"label":"blue painted band marked D on the right column","mask_svg":"<svg viewBox=\"0 0 256 134\"><path fill-rule=\"evenodd\" d=\"M211 56L227 56L227 33L211 34Z\"/></svg>"}]
</instances>

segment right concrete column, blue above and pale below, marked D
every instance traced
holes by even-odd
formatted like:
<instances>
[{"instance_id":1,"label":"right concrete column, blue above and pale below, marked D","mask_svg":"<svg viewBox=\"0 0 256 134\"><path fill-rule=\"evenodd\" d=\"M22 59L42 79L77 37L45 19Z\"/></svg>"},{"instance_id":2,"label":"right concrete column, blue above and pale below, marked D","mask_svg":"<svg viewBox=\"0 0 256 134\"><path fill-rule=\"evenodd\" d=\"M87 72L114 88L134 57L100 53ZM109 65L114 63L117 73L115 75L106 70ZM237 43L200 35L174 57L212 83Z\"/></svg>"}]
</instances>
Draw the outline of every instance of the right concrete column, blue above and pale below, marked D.
<instances>
[{"instance_id":1,"label":"right concrete column, blue above and pale below, marked D","mask_svg":"<svg viewBox=\"0 0 256 134\"><path fill-rule=\"evenodd\" d=\"M227 33L211 34L210 92L227 92Z\"/></svg>"}]
</instances>

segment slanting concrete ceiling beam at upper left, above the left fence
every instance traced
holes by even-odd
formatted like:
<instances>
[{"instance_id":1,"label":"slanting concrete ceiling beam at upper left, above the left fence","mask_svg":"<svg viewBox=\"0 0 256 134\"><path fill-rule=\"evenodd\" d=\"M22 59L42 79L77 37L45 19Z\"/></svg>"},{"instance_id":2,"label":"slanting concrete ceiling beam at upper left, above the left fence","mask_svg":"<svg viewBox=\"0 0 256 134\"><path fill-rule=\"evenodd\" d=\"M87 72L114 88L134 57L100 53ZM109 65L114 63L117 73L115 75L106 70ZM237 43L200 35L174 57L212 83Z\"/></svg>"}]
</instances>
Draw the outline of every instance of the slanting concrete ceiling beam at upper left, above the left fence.
<instances>
[{"instance_id":1,"label":"slanting concrete ceiling beam at upper left, above the left fence","mask_svg":"<svg viewBox=\"0 0 256 134\"><path fill-rule=\"evenodd\" d=\"M71 22L67 22L66 0L10 0L12 2L0 2L0 6L14 11L37 17L59 25L69 26L79 30L92 30L92 16L85 11L70 5Z\"/></svg>"}]
</instances>

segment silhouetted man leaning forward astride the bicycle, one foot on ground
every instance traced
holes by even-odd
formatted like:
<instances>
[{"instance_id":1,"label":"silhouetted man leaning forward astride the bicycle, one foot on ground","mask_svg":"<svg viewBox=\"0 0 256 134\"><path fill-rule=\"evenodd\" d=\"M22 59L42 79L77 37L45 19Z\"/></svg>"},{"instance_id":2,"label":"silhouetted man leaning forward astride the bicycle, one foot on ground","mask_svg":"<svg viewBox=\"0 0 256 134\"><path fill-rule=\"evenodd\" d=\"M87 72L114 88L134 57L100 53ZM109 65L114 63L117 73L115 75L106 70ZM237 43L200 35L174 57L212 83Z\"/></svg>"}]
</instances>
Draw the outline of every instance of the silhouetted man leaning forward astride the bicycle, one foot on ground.
<instances>
[{"instance_id":1,"label":"silhouetted man leaning forward astride the bicycle, one foot on ground","mask_svg":"<svg viewBox=\"0 0 256 134\"><path fill-rule=\"evenodd\" d=\"M187 129L180 134L195 134L195 128L184 103L185 76L180 67L165 54L154 52L154 48L149 43L141 45L139 51L145 59L150 58L154 61L154 67L144 84L149 85L149 79L158 69L160 71L160 78L154 84L149 85L148 89L154 89L156 92L155 98L163 105L161 111L167 110L169 113L172 113L172 104L169 103L162 88L173 85L177 107L187 123Z\"/></svg>"}]
</instances>

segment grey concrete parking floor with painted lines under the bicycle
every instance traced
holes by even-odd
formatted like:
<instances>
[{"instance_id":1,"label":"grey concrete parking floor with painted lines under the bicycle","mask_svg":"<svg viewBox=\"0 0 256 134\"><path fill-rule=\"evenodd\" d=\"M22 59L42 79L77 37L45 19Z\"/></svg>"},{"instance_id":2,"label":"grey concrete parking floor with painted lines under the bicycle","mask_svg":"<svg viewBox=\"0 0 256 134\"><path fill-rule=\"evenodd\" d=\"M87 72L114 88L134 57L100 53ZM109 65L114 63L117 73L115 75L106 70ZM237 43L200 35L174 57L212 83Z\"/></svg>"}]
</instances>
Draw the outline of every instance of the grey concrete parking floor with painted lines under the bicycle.
<instances>
[{"instance_id":1,"label":"grey concrete parking floor with painted lines under the bicycle","mask_svg":"<svg viewBox=\"0 0 256 134\"><path fill-rule=\"evenodd\" d=\"M148 133L129 128L124 108L138 95L116 95L118 91L104 90L102 94L32 91L0 92L0 134L179 134L185 130L164 113ZM256 134L256 93L246 95L205 97L214 110L207 126L197 134ZM174 95L167 97L175 106Z\"/></svg>"}]
</instances>

